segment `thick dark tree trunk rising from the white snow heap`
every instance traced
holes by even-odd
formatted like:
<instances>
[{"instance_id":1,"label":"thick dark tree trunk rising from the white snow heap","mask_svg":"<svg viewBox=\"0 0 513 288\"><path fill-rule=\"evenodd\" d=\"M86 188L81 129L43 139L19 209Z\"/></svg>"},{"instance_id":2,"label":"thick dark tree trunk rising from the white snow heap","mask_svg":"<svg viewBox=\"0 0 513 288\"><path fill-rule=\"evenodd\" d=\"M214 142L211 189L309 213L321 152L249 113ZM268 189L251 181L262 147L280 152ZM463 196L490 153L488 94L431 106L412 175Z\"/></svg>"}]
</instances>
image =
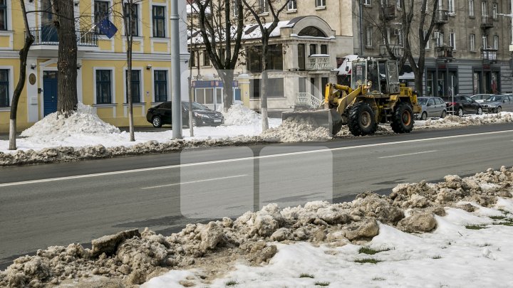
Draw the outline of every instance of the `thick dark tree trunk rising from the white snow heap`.
<instances>
[{"instance_id":1,"label":"thick dark tree trunk rising from the white snow heap","mask_svg":"<svg viewBox=\"0 0 513 288\"><path fill-rule=\"evenodd\" d=\"M57 28L58 79L57 111L68 117L78 105L77 98L77 41L73 0L53 0L53 25Z\"/></svg>"}]
</instances>

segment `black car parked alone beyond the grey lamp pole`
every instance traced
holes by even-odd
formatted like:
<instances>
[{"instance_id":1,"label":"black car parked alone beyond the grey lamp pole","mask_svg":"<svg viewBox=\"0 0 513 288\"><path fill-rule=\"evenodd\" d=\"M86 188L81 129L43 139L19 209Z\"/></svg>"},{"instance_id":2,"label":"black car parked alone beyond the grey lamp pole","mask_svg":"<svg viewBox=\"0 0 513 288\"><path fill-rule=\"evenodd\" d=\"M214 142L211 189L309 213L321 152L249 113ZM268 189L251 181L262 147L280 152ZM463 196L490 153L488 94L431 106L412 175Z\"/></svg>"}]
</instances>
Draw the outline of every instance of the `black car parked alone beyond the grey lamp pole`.
<instances>
[{"instance_id":1,"label":"black car parked alone beyond the grey lamp pole","mask_svg":"<svg viewBox=\"0 0 513 288\"><path fill-rule=\"evenodd\" d=\"M172 102L163 102L148 109L146 113L147 122L153 127L162 127L163 124L172 124ZM192 102L192 125L193 126L219 126L224 123L224 117L220 112L210 110L197 102ZM182 124L189 124L189 102L182 102Z\"/></svg>"}]
</instances>

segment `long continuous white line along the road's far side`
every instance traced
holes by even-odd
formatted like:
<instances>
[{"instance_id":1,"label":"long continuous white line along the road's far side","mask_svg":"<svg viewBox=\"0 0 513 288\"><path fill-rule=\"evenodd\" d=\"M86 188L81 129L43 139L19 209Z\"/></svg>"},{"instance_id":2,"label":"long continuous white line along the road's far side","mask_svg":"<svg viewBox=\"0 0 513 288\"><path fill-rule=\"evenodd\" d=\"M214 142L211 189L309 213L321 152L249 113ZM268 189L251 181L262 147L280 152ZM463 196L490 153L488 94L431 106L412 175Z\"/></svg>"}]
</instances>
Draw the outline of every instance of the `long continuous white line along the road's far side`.
<instances>
[{"instance_id":1,"label":"long continuous white line along the road's far side","mask_svg":"<svg viewBox=\"0 0 513 288\"><path fill-rule=\"evenodd\" d=\"M368 147L375 147L375 146L388 146L388 145L408 144L408 143L425 142L425 141L437 141L437 140L443 140L443 139L455 139L455 138L476 137L476 136L492 135L492 134L504 134L504 133L511 133L511 132L513 132L513 130L473 133L473 134L454 135L454 136L445 136L445 137L433 137L433 138L425 138L425 139L414 139L414 140L404 140L404 141L375 143L375 144L365 144L365 145L346 146L346 147L338 147L338 148L331 148L331 149L326 148L326 149L291 152L291 153L283 153L283 154L273 154L273 155L266 155L266 156L251 156L251 157L243 157L243 158L237 158L237 159L206 161L206 162L197 162L197 163L190 163L190 164L177 164L177 165L170 165L170 166L160 166L160 167L150 167L150 168L132 169L132 170L124 170L124 171L104 172L104 173L97 173L97 174L86 174L86 175L66 176L66 177L48 178L48 179L31 180L31 181L2 183L2 184L0 184L0 187L17 186L17 185L25 185L25 184L32 184L32 183L73 180L73 179L79 179L79 178L110 176L110 175L137 173L137 172L145 172L145 171L155 171L155 170L163 170L163 169L175 169L175 168L181 168L181 167L199 166L199 165L207 165L207 164L220 164L220 163L228 163L228 162L235 162L235 161L265 159L265 158L273 158L273 157L281 157L281 156L293 156L293 155L311 154L311 153L319 153L319 152L327 152L327 151L340 151L340 150L360 149L360 148L368 148Z\"/></svg>"}]
</instances>

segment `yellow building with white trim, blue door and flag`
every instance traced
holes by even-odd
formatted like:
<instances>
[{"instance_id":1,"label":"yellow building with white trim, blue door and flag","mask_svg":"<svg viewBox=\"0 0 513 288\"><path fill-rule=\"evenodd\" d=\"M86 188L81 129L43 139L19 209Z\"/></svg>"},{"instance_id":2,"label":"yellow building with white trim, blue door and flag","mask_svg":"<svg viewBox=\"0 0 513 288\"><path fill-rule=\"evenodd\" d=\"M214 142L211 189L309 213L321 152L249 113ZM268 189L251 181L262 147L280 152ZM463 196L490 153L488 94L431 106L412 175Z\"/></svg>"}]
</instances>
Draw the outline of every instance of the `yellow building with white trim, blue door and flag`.
<instances>
[{"instance_id":1,"label":"yellow building with white trim, blue door and flag","mask_svg":"<svg viewBox=\"0 0 513 288\"><path fill-rule=\"evenodd\" d=\"M78 44L78 101L95 107L98 116L116 126L128 126L126 41L123 7L113 0L74 0ZM180 3L182 2L182 3ZM51 11L50 0L27 0L27 11ZM133 112L136 125L148 125L148 108L171 99L170 0L135 1L133 28ZM185 1L179 1L185 18ZM56 111L58 37L52 14L28 13L35 42L28 53L26 85L17 124L24 129ZM98 23L108 17L118 28L108 38ZM182 99L187 99L187 30L180 23ZM183 33L182 33L183 31ZM19 2L0 0L0 132L9 130L12 93L19 78L19 49L24 23ZM174 64L174 63L173 63Z\"/></svg>"}]
</instances>

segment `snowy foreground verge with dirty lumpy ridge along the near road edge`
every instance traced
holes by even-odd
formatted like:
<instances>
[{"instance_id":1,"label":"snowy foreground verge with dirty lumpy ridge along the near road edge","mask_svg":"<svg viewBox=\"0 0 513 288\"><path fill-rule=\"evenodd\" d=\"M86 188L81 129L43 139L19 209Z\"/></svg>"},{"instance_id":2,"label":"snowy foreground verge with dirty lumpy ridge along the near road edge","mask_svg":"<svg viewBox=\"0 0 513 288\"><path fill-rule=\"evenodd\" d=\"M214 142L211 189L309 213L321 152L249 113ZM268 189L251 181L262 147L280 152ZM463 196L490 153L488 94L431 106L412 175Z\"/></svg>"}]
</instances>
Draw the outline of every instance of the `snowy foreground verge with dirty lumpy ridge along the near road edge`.
<instances>
[{"instance_id":1,"label":"snowy foreground verge with dirty lumpy ridge along the near road edge","mask_svg":"<svg viewBox=\"0 0 513 288\"><path fill-rule=\"evenodd\" d=\"M511 287L512 192L513 169L503 166L346 203L269 204L167 237L126 230L92 249L20 257L0 287Z\"/></svg>"}]
</instances>

